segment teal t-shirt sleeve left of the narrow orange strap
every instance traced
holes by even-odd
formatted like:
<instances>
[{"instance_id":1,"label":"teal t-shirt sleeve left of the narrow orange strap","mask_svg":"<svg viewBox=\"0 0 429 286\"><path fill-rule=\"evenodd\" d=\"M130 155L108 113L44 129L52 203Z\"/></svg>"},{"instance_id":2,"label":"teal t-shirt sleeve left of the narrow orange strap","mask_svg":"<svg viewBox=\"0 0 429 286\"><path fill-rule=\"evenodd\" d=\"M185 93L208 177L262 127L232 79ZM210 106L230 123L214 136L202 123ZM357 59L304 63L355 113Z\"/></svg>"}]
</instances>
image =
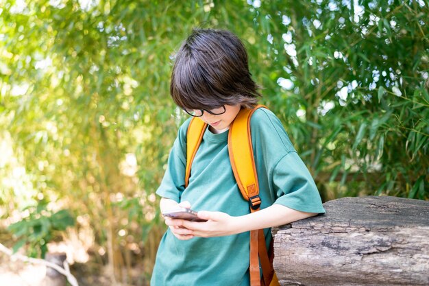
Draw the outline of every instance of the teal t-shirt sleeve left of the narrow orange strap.
<instances>
[{"instance_id":1,"label":"teal t-shirt sleeve left of the narrow orange strap","mask_svg":"<svg viewBox=\"0 0 429 286\"><path fill-rule=\"evenodd\" d=\"M167 169L160 187L156 190L157 195L175 202L180 202L180 197L185 188L186 132L189 122L190 120L185 121L179 128L177 138L169 154Z\"/></svg>"}]
</instances>

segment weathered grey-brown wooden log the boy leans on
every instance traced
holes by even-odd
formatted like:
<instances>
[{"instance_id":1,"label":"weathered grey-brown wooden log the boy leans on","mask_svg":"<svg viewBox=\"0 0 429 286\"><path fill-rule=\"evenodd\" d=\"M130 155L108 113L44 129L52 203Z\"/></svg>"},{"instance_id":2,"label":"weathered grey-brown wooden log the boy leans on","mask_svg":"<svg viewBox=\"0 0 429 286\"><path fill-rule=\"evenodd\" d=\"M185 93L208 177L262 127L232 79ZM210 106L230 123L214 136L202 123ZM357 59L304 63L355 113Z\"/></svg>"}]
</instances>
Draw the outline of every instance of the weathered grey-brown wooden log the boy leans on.
<instances>
[{"instance_id":1,"label":"weathered grey-brown wooden log the boy leans on","mask_svg":"<svg viewBox=\"0 0 429 286\"><path fill-rule=\"evenodd\" d=\"M341 198L273 228L280 285L429 285L429 202Z\"/></svg>"}]
</instances>

